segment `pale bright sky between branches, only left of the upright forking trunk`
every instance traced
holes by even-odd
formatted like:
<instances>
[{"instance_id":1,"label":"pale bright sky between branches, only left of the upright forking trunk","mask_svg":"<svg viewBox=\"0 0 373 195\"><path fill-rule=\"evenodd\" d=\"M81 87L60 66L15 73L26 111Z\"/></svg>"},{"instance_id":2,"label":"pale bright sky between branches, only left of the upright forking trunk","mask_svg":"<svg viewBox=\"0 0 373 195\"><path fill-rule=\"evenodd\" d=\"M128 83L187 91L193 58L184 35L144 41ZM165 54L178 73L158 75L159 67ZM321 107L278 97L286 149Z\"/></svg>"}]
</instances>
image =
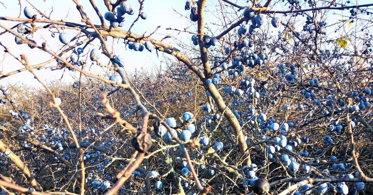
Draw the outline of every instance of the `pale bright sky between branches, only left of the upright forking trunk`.
<instances>
[{"instance_id":1,"label":"pale bright sky between branches, only left of the upright forking trunk","mask_svg":"<svg viewBox=\"0 0 373 195\"><path fill-rule=\"evenodd\" d=\"M19 16L19 5L18 1L2 1L4 5L7 7L5 9L3 6L0 5L0 13L2 16L8 16L8 17L18 17ZM55 7L54 11L51 14L51 19L53 20L61 20L63 18L64 21L69 21L69 22L77 22L81 23L81 18L79 15L78 10L75 8L75 3L70 0L63 0L63 1L53 1L53 0L48 0L48 1L43 1L41 2L40 0L29 0L31 4L33 4L35 7L37 7L39 10L45 11L46 15L49 15L51 8ZM88 16L90 17L91 20L94 21L94 23L99 24L98 16L94 12L91 4L89 1L81 1L84 2L82 3L85 11L88 13ZM99 7L101 13L105 13L107 9L106 7L103 6L103 1L96 1L97 6ZM140 4L136 0L129 0L131 4L135 6L135 9L137 10L137 13L134 15L127 15L126 17L126 25L122 27L122 29L128 30L129 26L131 26L132 22L137 18L138 14L138 9ZM23 15L23 8L25 6L29 6L29 4L21 0L22 3L22 9L21 9L21 18L25 18ZM166 28L171 27L171 28L179 28L183 29L186 28L186 19L181 18L177 13L175 13L172 9L174 8L175 10L178 10L182 14L186 15L186 13L190 13L190 11L185 11L184 10L184 4L182 2L178 1L173 1L173 0L145 0L144 3L144 9L143 11L147 13L148 18L146 20L139 19L139 21L135 24L135 26L132 28L132 32L136 34L143 34L146 31L145 35L149 35L151 32L153 32L157 26L161 26L159 30L152 35L153 38L156 39L162 39L165 37L167 34L173 35L174 32L170 30L166 30ZM67 15L67 17L66 17ZM10 21L0 21L1 23L7 25L8 27L12 27L16 25L17 23L15 22L10 22ZM110 25L108 21L106 21L107 25ZM42 26L43 24L38 23L37 26ZM45 24L44 24L45 25ZM51 29L52 31L56 31L56 29ZM70 35L75 35L76 31L68 30L66 29L65 32L69 32ZM51 33L48 32L48 29L41 29L38 30L34 37L35 40L37 41L38 45L41 45L42 42L44 42L43 39L47 40L47 43L51 48L53 48L54 51L59 50L63 44L60 43L58 39L58 34L56 34L56 37L53 38L50 35ZM182 38L182 36L186 36L189 38L189 35L187 34L181 34L178 37ZM185 37L185 38L186 38ZM31 49L27 45L22 44L22 45L16 45L14 41L14 35L11 35L9 33L6 33L4 35L0 36L0 41L6 45L7 47L10 48L10 51L15 54L16 56L19 56L19 54L25 53L30 61L31 65L35 65L41 62L44 62L48 59L50 59L50 55L47 55L45 52L40 51L38 49ZM108 40L108 44L112 45L112 40ZM127 60L126 64L126 70L133 71L135 68L140 69L143 66L147 67L153 67L154 64L159 65L160 60L162 60L163 53L159 52L159 58L157 57L157 54L155 51L152 53L148 52L147 50L144 50L142 52L139 51L130 51L130 50L125 50L124 44L120 44L123 42L123 39L120 40L119 44L117 44L117 39L116 39L116 45L115 45L115 54L124 56ZM166 40L166 42L172 43L172 39ZM98 46L99 43L98 41L93 42L94 45ZM98 47L97 47L98 48ZM3 56L4 52L2 49L0 55ZM87 53L87 51L85 51ZM103 58L104 60L108 60L106 57ZM0 64L0 71L3 73L7 73L13 70L18 70L23 67L17 60L15 60L13 57L11 57L9 54L5 56L4 59L2 57L0 58L1 64ZM87 60L88 64L90 65L91 61L88 59ZM56 64L56 62L54 62ZM91 69L91 72L97 72L99 70L102 70L101 68L95 68ZM40 75L43 80L46 79L52 79L54 78L59 79L62 76L63 70L54 70L51 71L49 69L47 70L38 70L36 71L38 75ZM66 72L70 72L66 70ZM78 76L76 74L75 76ZM73 80L73 77L70 74L64 75L64 81L66 82L71 82ZM33 76L29 72L21 72L16 75L9 76L6 79L2 79L0 83L11 83L15 84L16 82L23 82L26 84L37 84L38 82L33 79Z\"/></svg>"}]
</instances>

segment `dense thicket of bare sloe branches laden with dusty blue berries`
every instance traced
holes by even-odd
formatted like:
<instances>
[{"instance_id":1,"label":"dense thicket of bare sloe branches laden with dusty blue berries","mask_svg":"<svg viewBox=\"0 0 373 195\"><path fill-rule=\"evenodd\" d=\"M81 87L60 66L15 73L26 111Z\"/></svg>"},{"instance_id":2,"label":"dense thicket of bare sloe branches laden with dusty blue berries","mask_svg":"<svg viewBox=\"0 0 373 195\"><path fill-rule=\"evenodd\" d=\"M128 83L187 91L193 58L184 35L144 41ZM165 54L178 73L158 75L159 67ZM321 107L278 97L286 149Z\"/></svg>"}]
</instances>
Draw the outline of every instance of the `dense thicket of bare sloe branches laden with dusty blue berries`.
<instances>
[{"instance_id":1,"label":"dense thicket of bare sloe branches laden with dusty blue berries","mask_svg":"<svg viewBox=\"0 0 373 195\"><path fill-rule=\"evenodd\" d=\"M1 85L2 194L373 193L373 4L188 0L189 27L169 28L193 35L190 43L175 37L178 49L169 37L152 39L157 29L131 32L147 18L144 0L131 1L140 9L128 31L120 21L135 13L128 1L104 0L101 14L90 0L99 25L73 2L81 23L51 21L37 7L25 8L29 19L0 17L29 23L0 27L53 56L31 65L27 51L19 57L1 43L25 68L0 79L28 71L43 85ZM289 7L276 11L280 5ZM342 19L329 22L332 10ZM48 33L59 34L63 50L32 39L44 28L57 31ZM67 40L63 28L79 38ZM126 75L107 37L172 58L155 72ZM44 84L37 69L49 64L79 79Z\"/></svg>"}]
</instances>

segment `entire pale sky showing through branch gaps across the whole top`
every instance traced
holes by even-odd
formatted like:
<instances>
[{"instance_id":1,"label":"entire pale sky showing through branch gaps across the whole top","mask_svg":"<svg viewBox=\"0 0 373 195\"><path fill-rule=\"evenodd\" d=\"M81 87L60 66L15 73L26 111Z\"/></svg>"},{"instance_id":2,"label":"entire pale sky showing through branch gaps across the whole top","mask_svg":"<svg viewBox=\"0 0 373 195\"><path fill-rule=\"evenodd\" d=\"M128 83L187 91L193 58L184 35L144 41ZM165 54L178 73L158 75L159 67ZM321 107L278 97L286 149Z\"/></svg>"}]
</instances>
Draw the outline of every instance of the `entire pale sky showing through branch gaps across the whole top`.
<instances>
[{"instance_id":1,"label":"entire pale sky showing through branch gaps across the whole top","mask_svg":"<svg viewBox=\"0 0 373 195\"><path fill-rule=\"evenodd\" d=\"M233 2L240 4L240 5L247 5L245 3L245 0L232 0ZM359 1L352 1L353 4L365 4L370 3L371 0L359 0ZM39 10L41 10L43 13L45 13L47 16L50 15L50 18L52 20L60 21L61 19L63 21L69 21L69 22L76 22L81 23L81 16L78 12L78 10L75 8L75 3L73 3L72 0L21 0L21 9L20 5L18 4L18 1L16 0L6 0L1 1L4 3L4 6L0 4L0 15L1 16L8 16L17 18L20 16L20 18L25 18L23 14L23 9L26 6L30 6L29 3L37 7ZM29 3L28 3L29 2ZM82 3L82 6L84 7L85 12L87 12L90 19L95 24L99 24L100 21L98 19L97 14L95 13L94 9L92 8L91 4L88 0L80 0ZM96 0L95 1L98 9L102 14L107 12L106 7L102 3L102 0ZM121 27L122 29L128 30L129 26L131 26L132 22L137 18L138 15L138 9L140 7L140 4L137 0L128 0L128 2L135 7L136 13L134 15L127 15L126 16L126 23L124 27ZM209 0L209 5L219 6L219 1L217 0ZM264 1L265 2L265 1ZM352 5L351 3L351 5ZM189 15L190 10L184 10L185 0L145 0L144 1L144 9L143 12L147 13L148 18L146 20L139 19L139 21L135 24L135 26L132 28L132 32L135 34L144 34L149 35L151 32L153 32L157 26L161 26L156 33L154 33L151 37L161 40L166 35L171 35L173 37L177 37L179 40L182 41L190 41L191 34L188 33L178 33L177 31L173 30L166 30L166 28L174 28L174 29L184 29L184 28L194 28L191 25L196 26L197 23L191 23L189 19L186 19L185 17L181 15ZM276 6L272 7L272 10L287 10L287 6ZM53 9L53 12L50 14L51 10ZM210 7L207 7L207 11L209 11ZM179 13L177 13L179 12ZM235 9L237 10L237 9ZM242 12L242 11L241 11ZM332 11L333 12L333 11ZM348 10L345 10L344 12L348 12ZM181 15L180 15L181 14ZM218 18L214 16L215 13L206 13L206 20L207 22L214 21ZM242 14L242 13L241 13ZM40 18L40 15L39 15ZM337 21L338 19L345 19L342 18L342 16L333 16L328 18L327 22L333 22ZM105 21L106 24L109 26L109 22ZM270 22L270 20L269 20ZM338 21L337 21L338 22ZM11 21L0 21L0 23L12 27L15 26L19 22L11 22ZM36 26L44 26L45 23L37 23ZM301 26L300 26L301 27ZM215 28L215 26L213 26ZM216 28L221 28L221 26L218 26ZM278 30L278 29L277 29ZM37 42L38 45L41 45L43 42L47 42L48 46L52 48L52 50L56 53L59 53L61 48L63 48L63 44L58 39L58 33L56 34L56 37L51 36L51 31L56 32L56 29L40 29L37 32L34 33L33 38ZM71 29L65 29L65 32L68 32L71 37L76 35L76 31ZM220 32L221 30L218 30L217 32ZM339 35L338 35L339 36ZM12 54L15 56L19 56L20 54L24 53L28 56L28 59L30 61L30 65L36 65L42 62L45 62L51 58L49 54L46 54L44 51L38 50L37 48L31 49L26 44L22 45L16 45L14 41L14 35L10 33L5 33L0 36L0 41L2 44L4 44L6 47L9 47L9 50ZM112 45L112 39L108 39L108 45ZM173 40L173 38L167 38L165 40L166 43L172 44L177 47L177 44ZM186 42L185 42L186 43ZM92 42L93 46L91 48L98 48L100 43L98 41ZM88 50L85 50L86 54ZM70 54L70 53L68 53ZM163 53L159 52L159 56L157 56L156 52L153 51L152 53L148 52L147 50L144 50L142 52L139 51L131 51L126 49L123 40L116 39L114 44L114 54L120 55L126 59L125 64L125 70L126 72L134 72L135 69L139 70L142 67L145 69L153 69L154 67L159 67L161 65L161 62L165 59L163 58ZM166 54L167 55L167 54ZM11 72L14 70L18 70L23 68L23 65L19 63L16 59L14 59L9 54L4 54L3 49L0 49L0 71L2 73ZM67 57L67 56L65 56ZM103 61L102 63L109 62L109 59L105 56L102 57ZM56 62L51 63L51 65L55 66ZM50 67L51 65L47 65L46 67ZM103 73L106 71L106 69L97 67L97 66L90 66L91 60L87 60L87 65L89 67L89 70L87 70L90 73ZM69 70L53 70L51 71L48 69L41 69L35 71L38 76L43 79L43 81L50 82L50 81L58 81L62 76L62 82L71 83L73 81L76 81L79 78L78 73L72 73ZM26 85L40 85L36 79L34 79L34 76L27 72L23 71L21 73L17 73L15 75L9 76L5 79L0 80L0 84L26 84Z\"/></svg>"}]
</instances>

